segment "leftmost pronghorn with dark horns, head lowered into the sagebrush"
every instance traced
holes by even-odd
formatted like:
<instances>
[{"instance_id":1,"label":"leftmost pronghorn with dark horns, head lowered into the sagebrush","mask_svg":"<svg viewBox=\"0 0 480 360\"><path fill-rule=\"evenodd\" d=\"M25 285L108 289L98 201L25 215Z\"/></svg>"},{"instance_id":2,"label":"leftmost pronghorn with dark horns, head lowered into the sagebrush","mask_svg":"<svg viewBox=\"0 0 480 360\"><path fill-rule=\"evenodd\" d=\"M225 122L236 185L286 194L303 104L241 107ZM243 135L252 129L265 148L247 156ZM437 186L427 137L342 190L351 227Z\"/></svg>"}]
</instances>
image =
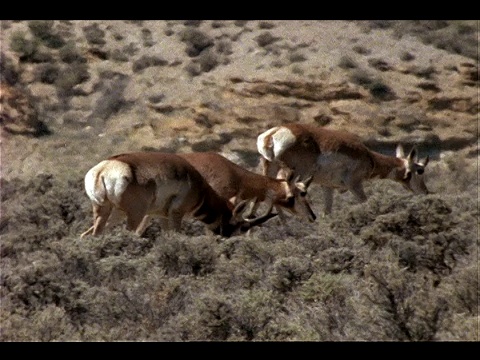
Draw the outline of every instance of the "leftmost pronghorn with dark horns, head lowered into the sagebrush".
<instances>
[{"instance_id":1,"label":"leftmost pronghorn with dark horns, head lowered into the sagebrush","mask_svg":"<svg viewBox=\"0 0 480 360\"><path fill-rule=\"evenodd\" d=\"M127 216L127 228L141 235L150 214L163 230L180 230L191 215L214 233L231 236L246 232L276 216L272 206L255 219L241 218L247 201L234 207L220 197L183 158L166 153L137 152L112 156L85 175L85 190L93 206L93 226L81 237L103 232L112 210Z\"/></svg>"}]
</instances>

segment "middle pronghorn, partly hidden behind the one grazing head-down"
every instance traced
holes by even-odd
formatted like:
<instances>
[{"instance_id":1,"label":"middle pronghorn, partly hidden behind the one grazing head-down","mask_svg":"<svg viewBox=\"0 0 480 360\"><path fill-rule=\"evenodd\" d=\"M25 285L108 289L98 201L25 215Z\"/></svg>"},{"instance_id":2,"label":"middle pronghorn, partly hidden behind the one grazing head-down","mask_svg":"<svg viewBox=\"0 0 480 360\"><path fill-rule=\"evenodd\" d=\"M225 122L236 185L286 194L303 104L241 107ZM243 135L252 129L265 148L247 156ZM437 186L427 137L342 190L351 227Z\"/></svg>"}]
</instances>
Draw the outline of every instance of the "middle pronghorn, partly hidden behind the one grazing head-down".
<instances>
[{"instance_id":1,"label":"middle pronghorn, partly hidden behind the one grazing head-down","mask_svg":"<svg viewBox=\"0 0 480 360\"><path fill-rule=\"evenodd\" d=\"M307 190L313 177L305 181L293 179L293 174L287 179L272 179L228 160L214 152L196 152L177 154L193 165L207 180L209 185L224 199L235 204L242 200L255 199L251 209L254 213L261 202L273 202L282 214L285 209L299 217L305 217L313 222L316 216L307 200Z\"/></svg>"}]
</instances>

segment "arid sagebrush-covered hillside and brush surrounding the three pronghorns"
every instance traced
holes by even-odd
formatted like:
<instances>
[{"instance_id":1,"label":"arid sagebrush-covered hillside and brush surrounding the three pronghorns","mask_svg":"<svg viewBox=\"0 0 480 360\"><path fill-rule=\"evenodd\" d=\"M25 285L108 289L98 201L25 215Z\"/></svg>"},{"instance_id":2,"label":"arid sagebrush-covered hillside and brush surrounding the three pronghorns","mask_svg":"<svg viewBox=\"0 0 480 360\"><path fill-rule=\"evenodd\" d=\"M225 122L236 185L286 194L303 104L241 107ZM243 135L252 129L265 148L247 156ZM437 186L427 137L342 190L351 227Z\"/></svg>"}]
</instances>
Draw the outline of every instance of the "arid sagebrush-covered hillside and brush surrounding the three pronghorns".
<instances>
[{"instance_id":1,"label":"arid sagebrush-covered hillside and brush surrounding the three pronghorns","mask_svg":"<svg viewBox=\"0 0 480 360\"><path fill-rule=\"evenodd\" d=\"M480 339L479 21L0 25L0 340ZM106 157L216 151L260 172L256 137L292 122L417 146L432 194L375 180L314 223L79 238Z\"/></svg>"}]
</instances>

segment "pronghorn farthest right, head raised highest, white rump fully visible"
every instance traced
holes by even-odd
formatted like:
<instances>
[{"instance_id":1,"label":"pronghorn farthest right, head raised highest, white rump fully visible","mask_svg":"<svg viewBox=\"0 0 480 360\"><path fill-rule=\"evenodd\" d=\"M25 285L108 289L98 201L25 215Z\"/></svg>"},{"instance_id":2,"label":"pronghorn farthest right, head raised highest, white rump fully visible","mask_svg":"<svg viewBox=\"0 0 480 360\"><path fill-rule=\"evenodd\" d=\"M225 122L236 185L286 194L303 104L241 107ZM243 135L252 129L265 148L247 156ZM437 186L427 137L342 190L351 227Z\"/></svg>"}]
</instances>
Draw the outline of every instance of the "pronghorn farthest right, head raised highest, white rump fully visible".
<instances>
[{"instance_id":1,"label":"pronghorn farthest right, head raised highest, white rump fully visible","mask_svg":"<svg viewBox=\"0 0 480 360\"><path fill-rule=\"evenodd\" d=\"M419 161L415 147L405 156L398 145L396 156L387 156L345 131L286 124L260 134L257 148L265 175L283 177L285 168L300 176L314 174L313 181L323 187L325 214L332 211L334 189L350 190L364 202L363 181L375 178L394 180L415 194L428 194L423 179L428 156Z\"/></svg>"}]
</instances>

